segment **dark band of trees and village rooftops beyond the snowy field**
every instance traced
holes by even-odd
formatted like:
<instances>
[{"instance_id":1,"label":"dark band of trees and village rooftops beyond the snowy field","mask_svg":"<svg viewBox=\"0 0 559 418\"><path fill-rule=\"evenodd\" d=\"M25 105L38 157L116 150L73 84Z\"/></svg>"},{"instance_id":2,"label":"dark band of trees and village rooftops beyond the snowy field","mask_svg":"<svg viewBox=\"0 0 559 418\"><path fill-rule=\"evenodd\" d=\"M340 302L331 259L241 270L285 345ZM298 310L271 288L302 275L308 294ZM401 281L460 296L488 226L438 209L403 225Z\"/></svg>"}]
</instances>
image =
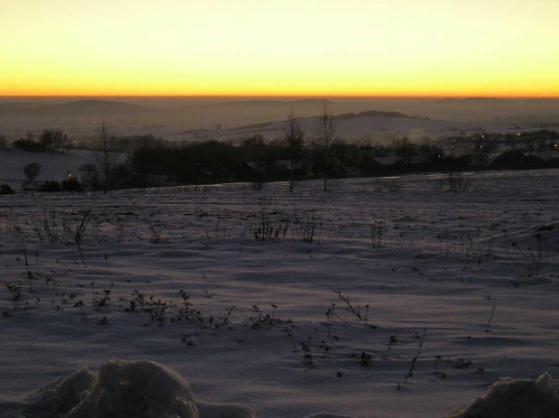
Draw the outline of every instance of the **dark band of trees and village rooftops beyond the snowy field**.
<instances>
[{"instance_id":1,"label":"dark band of trees and village rooftops beyond the snowy field","mask_svg":"<svg viewBox=\"0 0 559 418\"><path fill-rule=\"evenodd\" d=\"M235 144L216 140L172 143L153 135L115 136L107 131L88 143L76 144L62 131L46 129L37 137L28 135L12 144L0 136L0 149L90 154L90 162L81 164L77 172L49 181L36 181L40 164L26 166L23 190L42 191L226 182L251 182L258 189L267 181L559 167L559 134L547 129L464 133L415 142L402 137L389 144L333 137L325 146L320 138L309 135L293 145L288 139L270 140L257 134Z\"/></svg>"}]
</instances>

